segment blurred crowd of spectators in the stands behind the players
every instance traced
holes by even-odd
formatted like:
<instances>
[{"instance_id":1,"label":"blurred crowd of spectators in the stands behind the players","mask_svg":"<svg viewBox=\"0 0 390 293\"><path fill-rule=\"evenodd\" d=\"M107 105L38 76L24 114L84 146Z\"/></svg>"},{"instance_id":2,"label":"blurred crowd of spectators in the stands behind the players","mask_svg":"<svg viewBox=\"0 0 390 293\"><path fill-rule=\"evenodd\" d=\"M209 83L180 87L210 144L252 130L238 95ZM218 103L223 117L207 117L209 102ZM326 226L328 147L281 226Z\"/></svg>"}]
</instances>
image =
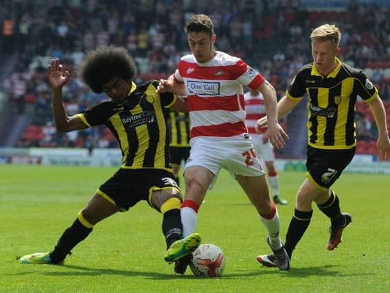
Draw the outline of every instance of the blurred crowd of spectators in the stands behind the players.
<instances>
[{"instance_id":1,"label":"blurred crowd of spectators in the stands behind the players","mask_svg":"<svg viewBox=\"0 0 390 293\"><path fill-rule=\"evenodd\" d=\"M297 70L312 60L307 39L312 28L336 23L343 32L341 59L365 70L387 103L390 117L389 8L357 5L353 0L343 10L321 11L308 10L298 0L5 1L0 8L0 50L17 52L19 58L1 88L10 93L19 114L32 114L31 125L16 146L116 147L104 128L56 132L46 76L49 60L60 58L72 72L64 100L68 113L77 113L106 99L91 93L78 78L86 51L108 44L124 46L137 61L137 82L166 78L187 53L183 25L197 13L209 14L214 21L217 49L257 65L278 97ZM374 118L363 102L358 102L357 110L358 139L371 141L376 137Z\"/></svg>"}]
</instances>

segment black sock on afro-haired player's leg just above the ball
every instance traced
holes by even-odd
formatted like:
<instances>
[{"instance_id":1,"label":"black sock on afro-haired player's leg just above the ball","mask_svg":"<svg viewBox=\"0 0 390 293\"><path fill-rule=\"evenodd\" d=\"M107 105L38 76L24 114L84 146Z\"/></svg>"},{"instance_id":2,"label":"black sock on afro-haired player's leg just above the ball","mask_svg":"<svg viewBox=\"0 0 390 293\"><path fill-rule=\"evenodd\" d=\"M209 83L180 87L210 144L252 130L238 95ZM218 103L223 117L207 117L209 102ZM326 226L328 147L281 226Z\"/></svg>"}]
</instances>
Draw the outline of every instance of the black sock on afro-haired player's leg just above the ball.
<instances>
[{"instance_id":1,"label":"black sock on afro-haired player's leg just above the ball","mask_svg":"<svg viewBox=\"0 0 390 293\"><path fill-rule=\"evenodd\" d=\"M163 233L167 249L173 242L183 238L183 224L181 224L180 209L171 209L163 215Z\"/></svg>"}]
</instances>

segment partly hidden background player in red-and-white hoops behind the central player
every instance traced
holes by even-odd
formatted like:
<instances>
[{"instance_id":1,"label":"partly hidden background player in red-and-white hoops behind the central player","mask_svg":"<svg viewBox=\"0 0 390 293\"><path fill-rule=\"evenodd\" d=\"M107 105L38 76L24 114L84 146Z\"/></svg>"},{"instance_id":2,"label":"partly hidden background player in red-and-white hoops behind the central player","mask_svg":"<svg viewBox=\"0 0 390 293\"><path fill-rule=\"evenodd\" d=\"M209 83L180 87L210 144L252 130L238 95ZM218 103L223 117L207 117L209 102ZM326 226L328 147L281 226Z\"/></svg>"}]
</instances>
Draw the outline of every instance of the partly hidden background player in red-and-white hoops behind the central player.
<instances>
[{"instance_id":1,"label":"partly hidden background player in red-and-white hoops behind the central player","mask_svg":"<svg viewBox=\"0 0 390 293\"><path fill-rule=\"evenodd\" d=\"M251 135L255 151L260 155L261 161L264 161L266 164L268 182L273 191L273 201L276 204L288 204L287 200L279 196L279 176L275 168L275 153L273 152L272 144L264 137L267 126L259 128L258 133L255 130L257 120L267 115L263 94L257 91L257 89L249 88L249 91L244 94L244 100L246 110L245 124Z\"/></svg>"}]
</instances>

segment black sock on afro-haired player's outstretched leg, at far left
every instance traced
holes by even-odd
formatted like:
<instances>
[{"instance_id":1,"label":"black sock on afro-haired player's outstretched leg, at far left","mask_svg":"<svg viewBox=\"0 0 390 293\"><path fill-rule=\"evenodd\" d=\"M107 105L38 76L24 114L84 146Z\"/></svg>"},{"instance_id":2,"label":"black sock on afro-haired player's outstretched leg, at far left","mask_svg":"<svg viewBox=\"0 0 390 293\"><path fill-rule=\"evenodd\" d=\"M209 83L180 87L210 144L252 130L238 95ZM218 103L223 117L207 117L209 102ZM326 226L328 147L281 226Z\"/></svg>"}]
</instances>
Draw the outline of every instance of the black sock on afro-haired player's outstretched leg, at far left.
<instances>
[{"instance_id":1,"label":"black sock on afro-haired player's outstretched leg, at far left","mask_svg":"<svg viewBox=\"0 0 390 293\"><path fill-rule=\"evenodd\" d=\"M58 239L56 247L49 255L51 261L53 263L59 263L62 259L65 259L65 257L70 254L73 247L87 238L91 231L92 228L87 228L81 224L80 220L77 218L73 224L62 233L60 239Z\"/></svg>"}]
</instances>

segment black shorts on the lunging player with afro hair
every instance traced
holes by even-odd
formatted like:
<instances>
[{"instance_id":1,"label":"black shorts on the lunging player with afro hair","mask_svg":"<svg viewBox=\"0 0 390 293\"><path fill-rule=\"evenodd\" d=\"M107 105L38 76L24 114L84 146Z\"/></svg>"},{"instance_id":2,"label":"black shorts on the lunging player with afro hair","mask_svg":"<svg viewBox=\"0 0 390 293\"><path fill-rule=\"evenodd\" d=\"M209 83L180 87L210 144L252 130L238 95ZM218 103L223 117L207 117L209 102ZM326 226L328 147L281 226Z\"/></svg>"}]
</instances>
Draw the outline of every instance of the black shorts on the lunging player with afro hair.
<instances>
[{"instance_id":1,"label":"black shorts on the lunging player with afro hair","mask_svg":"<svg viewBox=\"0 0 390 293\"><path fill-rule=\"evenodd\" d=\"M100 185L98 194L115 204L121 211L127 211L140 200L146 200L150 204L152 191L167 187L180 191L171 172L163 169L121 168Z\"/></svg>"}]
</instances>

